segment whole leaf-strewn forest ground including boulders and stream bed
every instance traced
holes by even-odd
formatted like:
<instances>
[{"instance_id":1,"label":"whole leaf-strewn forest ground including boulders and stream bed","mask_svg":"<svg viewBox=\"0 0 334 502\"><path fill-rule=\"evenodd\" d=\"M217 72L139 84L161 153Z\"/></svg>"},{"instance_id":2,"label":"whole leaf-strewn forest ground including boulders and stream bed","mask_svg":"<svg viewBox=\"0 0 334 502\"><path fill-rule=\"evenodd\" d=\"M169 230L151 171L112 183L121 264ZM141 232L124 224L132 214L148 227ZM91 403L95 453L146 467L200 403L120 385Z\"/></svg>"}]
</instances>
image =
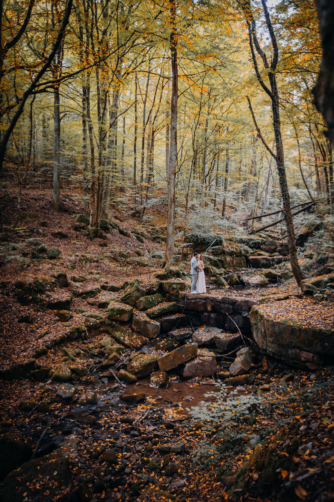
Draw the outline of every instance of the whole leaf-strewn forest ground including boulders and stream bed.
<instances>
[{"instance_id":1,"label":"whole leaf-strewn forest ground including boulders and stream bed","mask_svg":"<svg viewBox=\"0 0 334 502\"><path fill-rule=\"evenodd\" d=\"M91 241L72 193L61 213L48 190L4 197L0 500L331 499L329 276L304 296L229 241L191 295L189 255L161 269L159 209L119 204Z\"/></svg>"}]
</instances>

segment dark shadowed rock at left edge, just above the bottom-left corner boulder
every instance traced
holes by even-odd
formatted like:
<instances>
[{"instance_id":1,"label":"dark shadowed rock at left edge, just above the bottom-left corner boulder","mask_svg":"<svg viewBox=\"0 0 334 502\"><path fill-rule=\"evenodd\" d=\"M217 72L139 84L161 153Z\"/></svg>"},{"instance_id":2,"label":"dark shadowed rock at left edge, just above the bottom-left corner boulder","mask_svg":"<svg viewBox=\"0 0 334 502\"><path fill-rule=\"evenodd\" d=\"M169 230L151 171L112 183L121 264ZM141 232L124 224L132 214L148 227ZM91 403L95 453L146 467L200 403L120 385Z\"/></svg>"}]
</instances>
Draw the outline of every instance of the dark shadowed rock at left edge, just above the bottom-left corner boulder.
<instances>
[{"instance_id":1,"label":"dark shadowed rock at left edge, just above the bottom-left corner boulder","mask_svg":"<svg viewBox=\"0 0 334 502\"><path fill-rule=\"evenodd\" d=\"M15 439L11 434L3 434L0 437L0 481L9 472L29 460L31 454L31 446Z\"/></svg>"}]
</instances>

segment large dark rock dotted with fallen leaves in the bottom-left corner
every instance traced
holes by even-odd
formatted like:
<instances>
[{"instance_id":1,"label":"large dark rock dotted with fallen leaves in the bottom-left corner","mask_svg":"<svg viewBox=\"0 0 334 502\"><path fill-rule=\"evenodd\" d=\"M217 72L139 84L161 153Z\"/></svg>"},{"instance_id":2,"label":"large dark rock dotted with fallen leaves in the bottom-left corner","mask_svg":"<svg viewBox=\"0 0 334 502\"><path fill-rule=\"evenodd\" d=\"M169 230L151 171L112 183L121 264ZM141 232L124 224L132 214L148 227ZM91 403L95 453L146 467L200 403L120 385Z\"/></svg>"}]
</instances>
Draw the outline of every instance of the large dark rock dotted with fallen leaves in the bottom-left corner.
<instances>
[{"instance_id":1,"label":"large dark rock dotted with fallen leaves in the bottom-left corner","mask_svg":"<svg viewBox=\"0 0 334 502\"><path fill-rule=\"evenodd\" d=\"M72 485L69 461L62 453L35 458L12 471L0 489L2 502L51 502Z\"/></svg>"}]
</instances>

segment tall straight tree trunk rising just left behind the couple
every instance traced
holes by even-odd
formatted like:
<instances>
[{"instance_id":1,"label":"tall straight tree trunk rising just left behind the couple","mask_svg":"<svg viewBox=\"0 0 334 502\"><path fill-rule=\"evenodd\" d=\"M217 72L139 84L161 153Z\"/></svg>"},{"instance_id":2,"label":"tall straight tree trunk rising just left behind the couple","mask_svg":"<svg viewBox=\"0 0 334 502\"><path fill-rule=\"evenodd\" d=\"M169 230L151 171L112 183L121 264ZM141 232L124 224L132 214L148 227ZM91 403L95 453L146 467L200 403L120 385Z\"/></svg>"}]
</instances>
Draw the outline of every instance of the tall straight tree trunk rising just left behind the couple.
<instances>
[{"instance_id":1,"label":"tall straight tree trunk rising just left behind the couple","mask_svg":"<svg viewBox=\"0 0 334 502\"><path fill-rule=\"evenodd\" d=\"M170 107L167 242L166 242L166 253L165 253L165 259L168 264L173 263L173 256L174 256L175 178L176 178L176 166L177 166L178 63L177 63L175 0L171 0L171 21L172 21L172 31L170 34L170 51L171 51L171 63L172 63L172 96L171 96L171 107Z\"/></svg>"}]
</instances>

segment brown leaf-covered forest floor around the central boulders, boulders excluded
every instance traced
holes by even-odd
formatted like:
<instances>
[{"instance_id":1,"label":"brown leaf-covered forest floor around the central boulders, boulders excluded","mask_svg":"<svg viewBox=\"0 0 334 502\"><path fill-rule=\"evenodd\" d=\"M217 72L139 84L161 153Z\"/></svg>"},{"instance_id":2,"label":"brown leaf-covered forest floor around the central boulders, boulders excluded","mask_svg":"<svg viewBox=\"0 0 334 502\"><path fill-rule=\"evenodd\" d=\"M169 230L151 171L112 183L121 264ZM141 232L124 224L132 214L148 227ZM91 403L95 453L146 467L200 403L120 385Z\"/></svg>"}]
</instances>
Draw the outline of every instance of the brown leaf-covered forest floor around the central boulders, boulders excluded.
<instances>
[{"instance_id":1,"label":"brown leaf-covered forest floor around the central boulders, boulders excluded","mask_svg":"<svg viewBox=\"0 0 334 502\"><path fill-rule=\"evenodd\" d=\"M73 193L64 194L61 213L50 205L50 190L25 192L19 212L15 195L7 191L2 197L6 211L2 211L1 222L1 369L27 363L54 340L57 344L39 354L42 366L61 364L64 350L68 350L76 354L80 367L87 368L75 382L73 400L63 399L60 389L63 386L66 391L72 384L48 378L41 382L0 381L1 433L24 441L38 450L40 458L61 451L70 463L67 483L60 483L56 474L51 480L37 476L28 486L30 491L25 486L21 491L18 488L22 500L42 500L36 498L41 493L43 500L64 502L332 499L331 367L308 371L269 358L254 364L248 378L236 388L224 386L216 376L183 381L178 371L170 375L168 389L153 389L148 379L126 387L115 379L98 378L97 367L105 360L101 356L105 333L92 329L86 339L62 341L71 326L87 321L83 313L92 315L91 319L101 313L94 297L73 296L72 317L63 322L57 311L45 308L45 304L50 299L65 301L78 287L86 291L102 285L117 289L134 278L144 285L152 284L163 261L164 208L155 208L149 222L139 222L129 215L126 203L120 204L112 209L112 219L129 236L113 229L105 238L90 241L84 226L73 228L75 214L82 212ZM36 240L47 249L59 249L60 256L34 258ZM52 287L59 272L72 278L66 292ZM77 282L83 278L84 282ZM39 296L42 304L31 303L31 298L19 303L18 281L31 284L36 280L46 284ZM237 294L258 300L273 293L287 296L289 309L299 322L332 326L334 304L326 302L326 308L321 309L323 304L318 300L305 299L306 315L293 281L246 288ZM113 294L116 298L120 295L119 291ZM212 285L210 294L219 296L220 290ZM224 290L224 294L236 293ZM270 304L266 305L270 309ZM284 312L275 315L281 317ZM121 353L119 367L126 365L129 357L129 351ZM123 403L119 396L125 388L127 392L144 392L146 401ZM207 393L213 394L205 396ZM80 405L83 396L86 401ZM219 408L220 418L208 422L199 408L211 412ZM227 419L230 408L235 410L232 419ZM4 500L9 500L5 495L2 493Z\"/></svg>"}]
</instances>

